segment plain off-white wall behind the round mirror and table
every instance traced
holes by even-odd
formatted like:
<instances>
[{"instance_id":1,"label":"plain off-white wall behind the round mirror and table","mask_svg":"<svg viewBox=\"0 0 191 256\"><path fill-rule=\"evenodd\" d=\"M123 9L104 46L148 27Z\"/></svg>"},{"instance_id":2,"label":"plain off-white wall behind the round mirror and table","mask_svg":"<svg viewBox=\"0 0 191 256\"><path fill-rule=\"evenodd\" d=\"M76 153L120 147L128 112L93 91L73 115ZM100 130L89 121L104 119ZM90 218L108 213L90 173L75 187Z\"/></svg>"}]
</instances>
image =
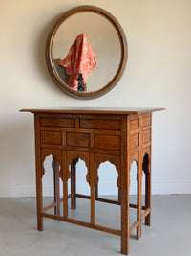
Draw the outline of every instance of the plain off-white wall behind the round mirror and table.
<instances>
[{"instance_id":1,"label":"plain off-white wall behind the round mirror and table","mask_svg":"<svg viewBox=\"0 0 191 256\"><path fill-rule=\"evenodd\" d=\"M53 20L81 4L116 16L129 45L117 86L96 100L65 95L45 61ZM21 108L150 106L153 118L153 193L191 193L191 1L19 0L0 8L0 197L35 195L32 114Z\"/></svg>"}]
</instances>

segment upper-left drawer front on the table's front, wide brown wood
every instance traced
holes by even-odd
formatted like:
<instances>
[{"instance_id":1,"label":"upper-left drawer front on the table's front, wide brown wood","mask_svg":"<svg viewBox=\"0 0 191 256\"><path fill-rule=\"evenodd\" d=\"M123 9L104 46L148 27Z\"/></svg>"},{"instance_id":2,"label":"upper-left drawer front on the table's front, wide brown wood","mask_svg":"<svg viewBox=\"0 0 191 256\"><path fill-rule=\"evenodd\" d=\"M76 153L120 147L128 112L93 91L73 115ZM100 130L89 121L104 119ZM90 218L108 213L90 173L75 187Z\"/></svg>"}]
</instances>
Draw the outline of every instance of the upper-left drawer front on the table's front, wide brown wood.
<instances>
[{"instance_id":1,"label":"upper-left drawer front on the table's front, wide brown wood","mask_svg":"<svg viewBox=\"0 0 191 256\"><path fill-rule=\"evenodd\" d=\"M40 118L41 127L74 128L74 119L72 118Z\"/></svg>"}]
</instances>

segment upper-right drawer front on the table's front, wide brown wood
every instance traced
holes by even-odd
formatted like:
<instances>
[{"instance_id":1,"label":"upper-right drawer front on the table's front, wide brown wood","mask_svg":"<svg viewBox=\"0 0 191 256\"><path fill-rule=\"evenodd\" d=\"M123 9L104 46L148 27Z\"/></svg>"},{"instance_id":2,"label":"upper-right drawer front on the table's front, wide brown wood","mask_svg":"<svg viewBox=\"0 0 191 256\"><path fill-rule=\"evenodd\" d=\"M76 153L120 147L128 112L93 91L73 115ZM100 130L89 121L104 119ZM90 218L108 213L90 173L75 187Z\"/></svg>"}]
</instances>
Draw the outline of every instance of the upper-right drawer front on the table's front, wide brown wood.
<instances>
[{"instance_id":1,"label":"upper-right drawer front on the table's front, wide brown wood","mask_svg":"<svg viewBox=\"0 0 191 256\"><path fill-rule=\"evenodd\" d=\"M80 119L80 128L120 130L118 120Z\"/></svg>"}]
</instances>

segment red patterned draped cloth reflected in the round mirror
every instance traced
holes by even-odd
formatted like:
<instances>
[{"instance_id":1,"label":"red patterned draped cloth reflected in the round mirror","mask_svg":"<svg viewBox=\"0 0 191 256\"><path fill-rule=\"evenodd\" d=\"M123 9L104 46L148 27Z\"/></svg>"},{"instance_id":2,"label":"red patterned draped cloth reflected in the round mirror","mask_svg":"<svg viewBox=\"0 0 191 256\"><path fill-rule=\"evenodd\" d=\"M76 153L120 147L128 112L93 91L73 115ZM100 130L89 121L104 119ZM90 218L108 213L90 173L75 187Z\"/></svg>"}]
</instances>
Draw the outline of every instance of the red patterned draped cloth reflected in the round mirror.
<instances>
[{"instance_id":1,"label":"red patterned draped cloth reflected in the round mirror","mask_svg":"<svg viewBox=\"0 0 191 256\"><path fill-rule=\"evenodd\" d=\"M88 75L96 67L96 58L85 34L76 37L68 55L59 61L59 65L66 67L66 73L70 76L69 84L74 90L77 89L78 73L82 74L83 82L87 82Z\"/></svg>"}]
</instances>

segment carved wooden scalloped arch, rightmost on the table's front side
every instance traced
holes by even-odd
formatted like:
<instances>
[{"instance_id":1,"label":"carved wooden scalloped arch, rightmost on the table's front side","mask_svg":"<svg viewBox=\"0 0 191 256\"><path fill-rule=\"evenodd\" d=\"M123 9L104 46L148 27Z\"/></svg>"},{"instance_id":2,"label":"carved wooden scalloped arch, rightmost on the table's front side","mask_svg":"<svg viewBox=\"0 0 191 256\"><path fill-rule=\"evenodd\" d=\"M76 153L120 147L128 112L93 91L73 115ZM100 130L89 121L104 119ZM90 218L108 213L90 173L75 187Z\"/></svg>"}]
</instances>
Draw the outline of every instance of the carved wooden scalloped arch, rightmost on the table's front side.
<instances>
[{"instance_id":1,"label":"carved wooden scalloped arch, rightmost on the table's front side","mask_svg":"<svg viewBox=\"0 0 191 256\"><path fill-rule=\"evenodd\" d=\"M117 187L120 188L120 186L121 186L121 184L120 184L121 183L120 182L120 160L119 160L118 155L96 154L95 158L96 158L95 159L95 162L96 162L95 184L98 183L99 178L98 178L97 171L98 171L98 168L99 168L100 164L104 163L106 161L109 161L110 163L112 163L116 167L117 174L118 174Z\"/></svg>"}]
</instances>

